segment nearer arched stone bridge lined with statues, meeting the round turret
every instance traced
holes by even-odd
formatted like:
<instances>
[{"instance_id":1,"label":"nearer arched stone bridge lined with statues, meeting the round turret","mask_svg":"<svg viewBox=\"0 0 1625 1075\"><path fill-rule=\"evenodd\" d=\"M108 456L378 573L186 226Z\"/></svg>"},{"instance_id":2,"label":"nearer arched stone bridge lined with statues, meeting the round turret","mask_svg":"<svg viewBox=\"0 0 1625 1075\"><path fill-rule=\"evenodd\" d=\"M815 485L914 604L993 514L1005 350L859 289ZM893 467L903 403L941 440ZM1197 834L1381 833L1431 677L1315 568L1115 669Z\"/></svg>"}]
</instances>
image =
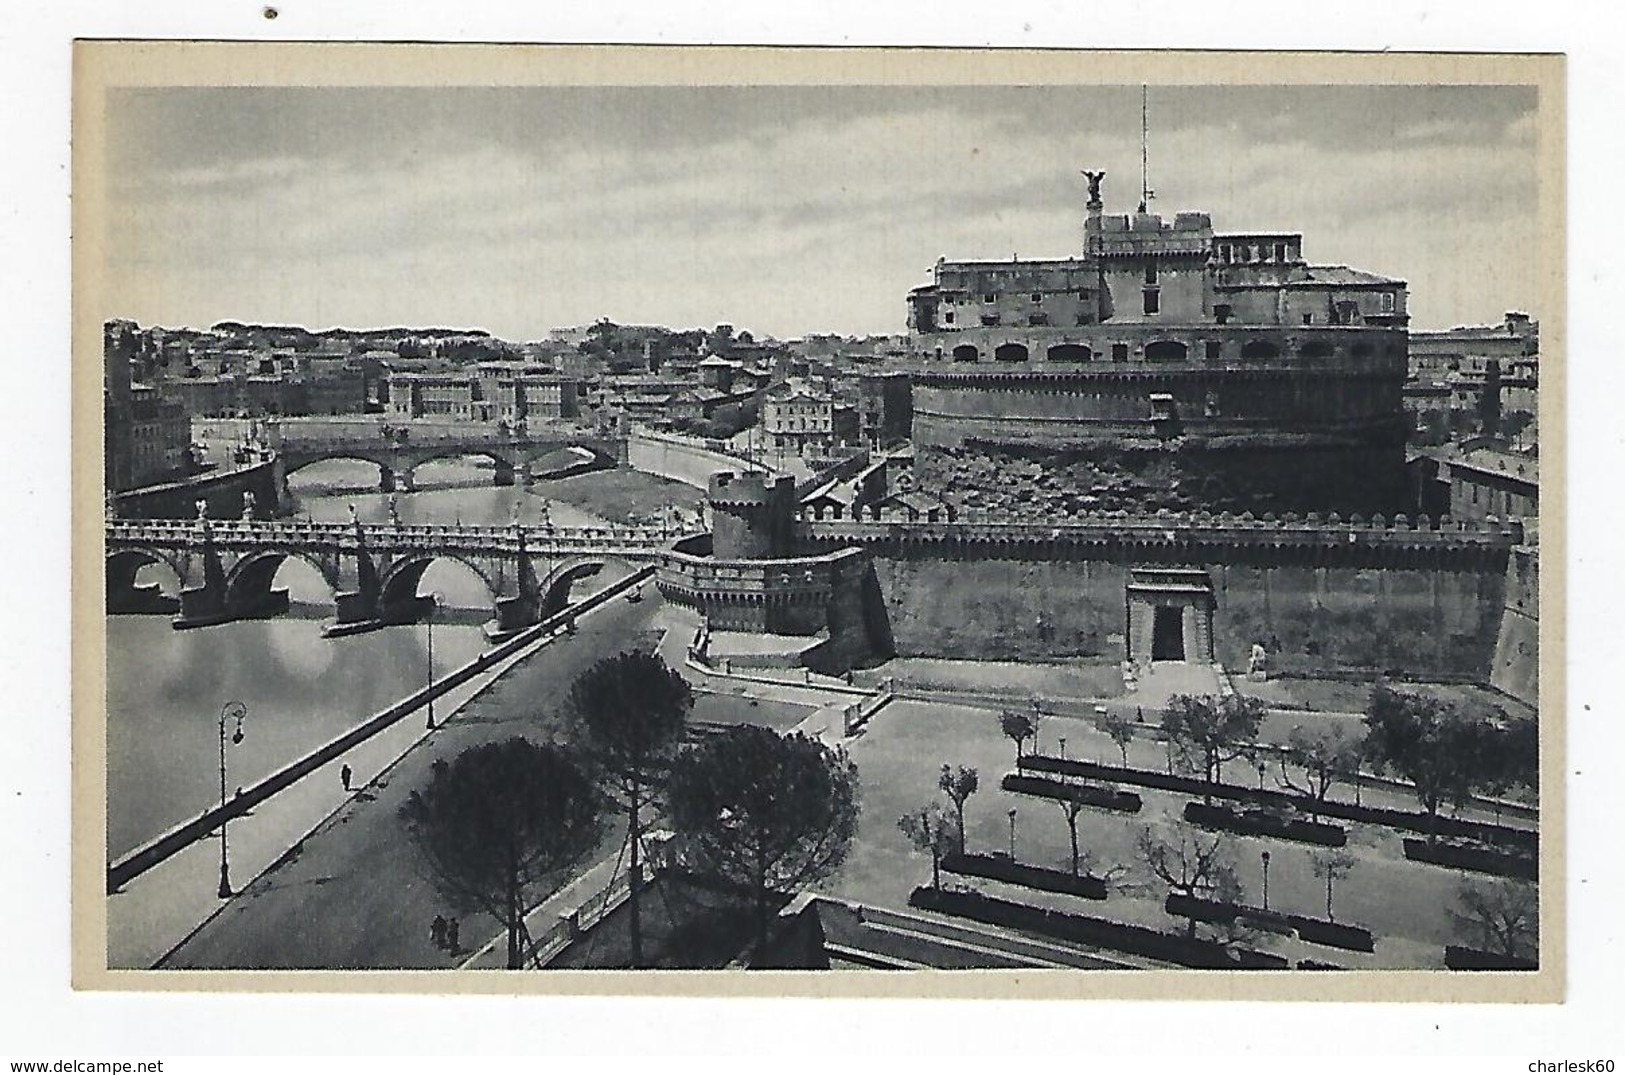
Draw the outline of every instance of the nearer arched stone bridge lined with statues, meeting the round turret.
<instances>
[{"instance_id":1,"label":"nearer arched stone bridge lined with statues, meeting the round turret","mask_svg":"<svg viewBox=\"0 0 1625 1075\"><path fill-rule=\"evenodd\" d=\"M421 596L418 583L434 560L450 559L484 580L494 607L486 633L502 640L562 609L570 585L608 560L658 560L679 536L658 526L109 520L107 612L176 612L176 628L280 615L288 611L288 591L273 589L273 581L297 557L333 589L336 614L325 633L359 633L424 619L434 599ZM146 563L174 570L179 601L156 585L136 583Z\"/></svg>"}]
</instances>

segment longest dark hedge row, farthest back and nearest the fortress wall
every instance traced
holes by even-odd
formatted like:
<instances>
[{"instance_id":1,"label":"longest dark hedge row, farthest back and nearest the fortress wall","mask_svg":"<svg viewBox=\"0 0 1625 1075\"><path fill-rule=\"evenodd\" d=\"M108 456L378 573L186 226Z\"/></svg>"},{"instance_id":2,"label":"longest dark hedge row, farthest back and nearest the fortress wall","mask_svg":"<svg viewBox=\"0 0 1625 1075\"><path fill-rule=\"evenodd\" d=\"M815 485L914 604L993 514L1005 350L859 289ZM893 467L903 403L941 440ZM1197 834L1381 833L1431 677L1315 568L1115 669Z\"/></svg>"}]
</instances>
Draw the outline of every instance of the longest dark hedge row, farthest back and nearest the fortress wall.
<instances>
[{"instance_id":1,"label":"longest dark hedge row, farthest back and nearest the fortress wall","mask_svg":"<svg viewBox=\"0 0 1625 1075\"><path fill-rule=\"evenodd\" d=\"M1043 753L1027 753L1020 758L1020 768L1046 773L1066 773L1068 776L1103 779L1120 784L1136 784L1139 788L1180 791L1190 796L1251 802L1263 807L1292 809L1300 814L1334 817L1342 822L1363 822L1367 825L1402 828L1414 833L1427 833L1428 825L1432 825L1433 831L1440 836L1466 836L1471 840L1482 840L1485 843L1521 848L1531 853L1536 851L1540 843L1540 835L1528 828L1511 828L1508 825L1471 822L1453 817L1438 817L1430 822L1428 815L1420 810L1391 810L1386 807L1357 805L1354 802L1316 801L1310 796L1285 794L1264 788L1243 788L1240 784L1209 784L1207 781L1196 779L1194 776L1159 773L1155 770L1123 768L1120 765L1100 765L1097 762L1082 762L1077 758L1053 758Z\"/></svg>"}]
</instances>

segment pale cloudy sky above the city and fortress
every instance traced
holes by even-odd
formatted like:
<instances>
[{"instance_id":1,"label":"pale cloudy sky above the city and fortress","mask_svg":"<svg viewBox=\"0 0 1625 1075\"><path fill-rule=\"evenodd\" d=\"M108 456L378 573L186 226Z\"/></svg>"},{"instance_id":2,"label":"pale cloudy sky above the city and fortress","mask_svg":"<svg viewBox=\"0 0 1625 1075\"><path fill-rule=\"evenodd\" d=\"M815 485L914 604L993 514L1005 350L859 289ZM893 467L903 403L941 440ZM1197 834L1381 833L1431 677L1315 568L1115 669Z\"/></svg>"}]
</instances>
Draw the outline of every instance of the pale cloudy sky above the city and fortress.
<instances>
[{"instance_id":1,"label":"pale cloudy sky above the city and fortress","mask_svg":"<svg viewBox=\"0 0 1625 1075\"><path fill-rule=\"evenodd\" d=\"M146 88L107 97L109 309L900 333L939 257L1082 247L1139 200L1139 86ZM1152 86L1152 211L1303 232L1412 328L1539 310L1536 91Z\"/></svg>"}]
</instances>

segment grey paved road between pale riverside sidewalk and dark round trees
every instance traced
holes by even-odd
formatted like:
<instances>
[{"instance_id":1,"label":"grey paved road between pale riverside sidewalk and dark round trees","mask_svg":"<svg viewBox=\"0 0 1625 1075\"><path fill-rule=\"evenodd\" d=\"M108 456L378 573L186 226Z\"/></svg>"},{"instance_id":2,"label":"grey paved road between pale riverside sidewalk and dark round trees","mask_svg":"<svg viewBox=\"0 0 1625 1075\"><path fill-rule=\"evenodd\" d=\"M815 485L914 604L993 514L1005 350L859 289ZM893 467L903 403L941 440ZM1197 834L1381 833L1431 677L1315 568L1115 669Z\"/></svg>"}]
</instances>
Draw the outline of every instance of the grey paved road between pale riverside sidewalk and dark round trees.
<instances>
[{"instance_id":1,"label":"grey paved road between pale riverside sidewalk and dark round trees","mask_svg":"<svg viewBox=\"0 0 1625 1075\"><path fill-rule=\"evenodd\" d=\"M301 840L288 857L249 883L161 968L452 968L500 932L486 914L463 916L465 950L447 953L429 940L429 921L447 908L396 812L429 781L436 758L468 747L557 729L554 706L592 663L630 646L661 601L650 589L639 604L611 601L580 620L574 637L552 641L517 664L489 690ZM619 846L608 827L600 854Z\"/></svg>"}]
</instances>

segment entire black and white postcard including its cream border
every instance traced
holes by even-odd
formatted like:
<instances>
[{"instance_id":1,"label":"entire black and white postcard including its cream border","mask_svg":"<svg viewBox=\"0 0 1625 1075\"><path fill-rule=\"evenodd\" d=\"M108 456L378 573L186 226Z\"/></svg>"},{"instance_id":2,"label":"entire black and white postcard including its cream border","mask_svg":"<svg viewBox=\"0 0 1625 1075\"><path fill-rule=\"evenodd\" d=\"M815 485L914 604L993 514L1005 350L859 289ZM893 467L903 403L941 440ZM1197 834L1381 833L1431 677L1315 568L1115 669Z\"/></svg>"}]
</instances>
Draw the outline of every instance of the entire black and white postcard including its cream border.
<instances>
[{"instance_id":1,"label":"entire black and white postcard including its cream border","mask_svg":"<svg viewBox=\"0 0 1625 1075\"><path fill-rule=\"evenodd\" d=\"M78 47L104 987L1560 995L1560 58Z\"/></svg>"}]
</instances>

